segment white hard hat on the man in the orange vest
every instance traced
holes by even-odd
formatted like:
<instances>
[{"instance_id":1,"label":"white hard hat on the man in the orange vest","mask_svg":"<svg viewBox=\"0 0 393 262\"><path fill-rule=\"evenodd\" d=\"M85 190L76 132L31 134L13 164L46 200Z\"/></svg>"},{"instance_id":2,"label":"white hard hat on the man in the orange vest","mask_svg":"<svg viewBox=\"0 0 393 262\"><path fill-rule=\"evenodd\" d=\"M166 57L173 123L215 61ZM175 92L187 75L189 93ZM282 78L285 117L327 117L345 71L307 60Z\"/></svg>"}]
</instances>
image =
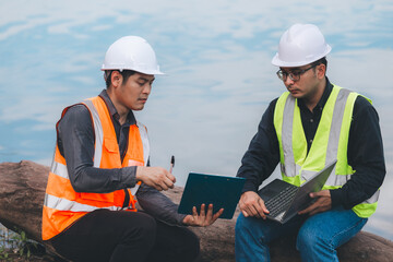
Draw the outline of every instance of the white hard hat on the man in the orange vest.
<instances>
[{"instance_id":1,"label":"white hard hat on the man in the orange vest","mask_svg":"<svg viewBox=\"0 0 393 262\"><path fill-rule=\"evenodd\" d=\"M155 52L148 43L139 36L124 36L108 48L102 70L133 70L144 74L164 74Z\"/></svg>"}]
</instances>

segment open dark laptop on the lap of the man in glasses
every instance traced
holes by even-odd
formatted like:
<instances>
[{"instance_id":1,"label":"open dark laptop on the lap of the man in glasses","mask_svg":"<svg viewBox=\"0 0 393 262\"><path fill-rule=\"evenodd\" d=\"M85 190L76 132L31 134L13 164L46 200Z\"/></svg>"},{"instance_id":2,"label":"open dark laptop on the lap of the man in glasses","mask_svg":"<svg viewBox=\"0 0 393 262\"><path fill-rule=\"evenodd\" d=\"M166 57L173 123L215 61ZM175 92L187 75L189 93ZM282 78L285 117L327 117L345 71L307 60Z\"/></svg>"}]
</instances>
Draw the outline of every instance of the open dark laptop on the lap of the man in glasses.
<instances>
[{"instance_id":1,"label":"open dark laptop on the lap of the man in glasses","mask_svg":"<svg viewBox=\"0 0 393 262\"><path fill-rule=\"evenodd\" d=\"M303 182L300 187L296 187L281 179L275 179L263 187L258 193L270 211L266 217L284 224L299 211L309 206L313 201L309 196L309 193L318 192L323 188L335 164L336 160L326 165L325 168Z\"/></svg>"}]
</instances>

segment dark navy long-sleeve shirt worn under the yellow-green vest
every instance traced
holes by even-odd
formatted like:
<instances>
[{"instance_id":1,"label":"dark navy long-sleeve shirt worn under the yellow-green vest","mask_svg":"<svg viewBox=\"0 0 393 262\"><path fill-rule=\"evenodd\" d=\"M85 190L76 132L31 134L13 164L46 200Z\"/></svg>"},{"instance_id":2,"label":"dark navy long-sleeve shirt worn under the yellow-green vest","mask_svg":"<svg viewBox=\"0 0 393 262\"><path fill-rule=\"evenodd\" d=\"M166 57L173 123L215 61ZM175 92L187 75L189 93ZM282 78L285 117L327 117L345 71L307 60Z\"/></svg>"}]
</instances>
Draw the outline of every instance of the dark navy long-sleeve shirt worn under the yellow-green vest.
<instances>
[{"instance_id":1,"label":"dark navy long-sleeve shirt worn under the yellow-green vest","mask_svg":"<svg viewBox=\"0 0 393 262\"><path fill-rule=\"evenodd\" d=\"M312 111L305 106L302 99L298 99L308 151L332 88L333 85L326 78L324 93ZM277 99L272 100L263 114L258 132L242 157L237 176L247 179L243 192L258 191L263 180L271 176L279 163L279 146L273 123ZM354 105L347 157L355 174L342 188L330 192L332 206L343 205L345 209L352 209L371 198L381 187L385 176L379 117L374 107L362 96L358 96Z\"/></svg>"}]
</instances>

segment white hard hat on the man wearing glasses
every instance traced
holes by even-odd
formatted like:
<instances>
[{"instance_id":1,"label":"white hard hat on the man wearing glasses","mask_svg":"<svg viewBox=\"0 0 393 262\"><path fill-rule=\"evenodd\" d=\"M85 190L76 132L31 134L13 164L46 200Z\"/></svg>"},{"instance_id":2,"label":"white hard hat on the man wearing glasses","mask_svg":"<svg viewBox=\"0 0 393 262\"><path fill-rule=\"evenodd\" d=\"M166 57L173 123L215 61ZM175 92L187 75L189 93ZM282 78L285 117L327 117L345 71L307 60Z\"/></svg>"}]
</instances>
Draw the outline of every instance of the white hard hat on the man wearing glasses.
<instances>
[{"instance_id":1,"label":"white hard hat on the man wearing glasses","mask_svg":"<svg viewBox=\"0 0 393 262\"><path fill-rule=\"evenodd\" d=\"M278 52L272 59L277 67L301 67L325 57L332 50L313 24L294 24L279 39Z\"/></svg>"}]
</instances>

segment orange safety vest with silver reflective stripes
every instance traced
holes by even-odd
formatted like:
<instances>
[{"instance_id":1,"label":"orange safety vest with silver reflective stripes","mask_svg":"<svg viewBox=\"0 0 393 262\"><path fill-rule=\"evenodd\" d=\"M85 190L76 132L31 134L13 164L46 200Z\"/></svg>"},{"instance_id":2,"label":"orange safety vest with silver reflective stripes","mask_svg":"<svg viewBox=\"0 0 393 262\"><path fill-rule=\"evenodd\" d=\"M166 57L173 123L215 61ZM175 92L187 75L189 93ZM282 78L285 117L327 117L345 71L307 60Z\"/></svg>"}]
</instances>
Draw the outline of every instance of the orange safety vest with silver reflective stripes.
<instances>
[{"instance_id":1,"label":"orange safety vest with silver reflective stripes","mask_svg":"<svg viewBox=\"0 0 393 262\"><path fill-rule=\"evenodd\" d=\"M130 126L128 147L121 163L119 145L106 103L100 97L93 97L82 103L91 112L95 133L94 167L121 168L127 166L145 166L148 159L148 139L146 128L136 122ZM66 108L61 115L64 116ZM61 119L60 119L61 120ZM59 121L60 122L60 121ZM58 122L58 123L59 123ZM85 214L107 209L111 211L136 211L134 194L139 184L127 189L130 202L126 201L126 190L110 193L83 193L75 192L72 188L67 163L56 146L53 162L49 171L48 184L43 210L43 239L48 240L70 227Z\"/></svg>"}]
</instances>

